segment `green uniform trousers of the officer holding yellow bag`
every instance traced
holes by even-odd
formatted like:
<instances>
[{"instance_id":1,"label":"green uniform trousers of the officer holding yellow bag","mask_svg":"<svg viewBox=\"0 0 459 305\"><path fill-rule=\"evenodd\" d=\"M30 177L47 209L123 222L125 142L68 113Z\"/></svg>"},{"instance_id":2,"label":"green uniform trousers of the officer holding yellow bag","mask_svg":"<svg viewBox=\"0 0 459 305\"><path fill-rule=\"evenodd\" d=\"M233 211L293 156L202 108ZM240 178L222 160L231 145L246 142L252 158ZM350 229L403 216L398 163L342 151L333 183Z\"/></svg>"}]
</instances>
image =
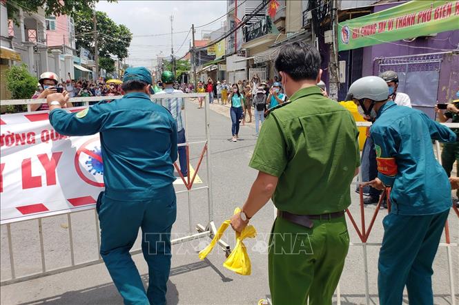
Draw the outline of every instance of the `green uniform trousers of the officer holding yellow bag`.
<instances>
[{"instance_id":1,"label":"green uniform trousers of the officer holding yellow bag","mask_svg":"<svg viewBox=\"0 0 459 305\"><path fill-rule=\"evenodd\" d=\"M349 250L344 216L313 220L312 229L276 218L269 242L269 288L274 305L331 304Z\"/></svg>"}]
</instances>

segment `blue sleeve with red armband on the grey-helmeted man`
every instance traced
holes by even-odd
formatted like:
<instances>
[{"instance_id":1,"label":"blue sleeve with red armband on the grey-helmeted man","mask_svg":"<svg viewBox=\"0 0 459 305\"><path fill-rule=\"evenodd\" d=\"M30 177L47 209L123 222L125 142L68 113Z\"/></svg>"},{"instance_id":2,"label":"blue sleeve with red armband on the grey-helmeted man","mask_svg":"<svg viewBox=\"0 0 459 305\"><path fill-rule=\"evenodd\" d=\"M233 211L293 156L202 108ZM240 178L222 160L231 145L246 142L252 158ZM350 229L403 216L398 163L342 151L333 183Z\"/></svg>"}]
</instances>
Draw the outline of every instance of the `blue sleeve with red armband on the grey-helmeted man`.
<instances>
[{"instance_id":1,"label":"blue sleeve with red armband on the grey-helmeted man","mask_svg":"<svg viewBox=\"0 0 459 305\"><path fill-rule=\"evenodd\" d=\"M391 187L398 173L395 156L398 154L400 136L394 129L371 130L371 138L375 143L378 178Z\"/></svg>"}]
</instances>

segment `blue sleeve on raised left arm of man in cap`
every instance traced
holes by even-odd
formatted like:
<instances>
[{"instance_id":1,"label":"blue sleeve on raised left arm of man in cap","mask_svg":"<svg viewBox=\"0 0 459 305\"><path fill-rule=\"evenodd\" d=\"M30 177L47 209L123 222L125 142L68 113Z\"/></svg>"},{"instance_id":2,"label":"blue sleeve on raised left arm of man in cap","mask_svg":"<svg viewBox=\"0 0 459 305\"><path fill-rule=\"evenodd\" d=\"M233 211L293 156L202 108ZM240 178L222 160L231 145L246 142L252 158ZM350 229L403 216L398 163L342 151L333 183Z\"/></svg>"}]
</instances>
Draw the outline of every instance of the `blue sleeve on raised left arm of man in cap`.
<instances>
[{"instance_id":1,"label":"blue sleeve on raised left arm of man in cap","mask_svg":"<svg viewBox=\"0 0 459 305\"><path fill-rule=\"evenodd\" d=\"M106 104L95 104L81 112L68 113L64 109L53 109L50 112L52 127L64 136L88 136L97 134L108 118L104 110Z\"/></svg>"}]
</instances>

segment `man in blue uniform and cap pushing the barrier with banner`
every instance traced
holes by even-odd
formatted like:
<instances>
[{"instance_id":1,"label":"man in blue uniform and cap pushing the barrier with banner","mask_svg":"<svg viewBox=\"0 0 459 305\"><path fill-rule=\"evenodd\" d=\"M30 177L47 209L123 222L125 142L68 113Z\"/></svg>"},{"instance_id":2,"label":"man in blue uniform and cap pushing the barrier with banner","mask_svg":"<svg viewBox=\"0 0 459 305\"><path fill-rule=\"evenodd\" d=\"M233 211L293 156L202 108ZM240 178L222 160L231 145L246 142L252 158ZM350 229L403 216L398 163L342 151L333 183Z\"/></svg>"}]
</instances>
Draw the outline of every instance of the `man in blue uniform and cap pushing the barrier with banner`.
<instances>
[{"instance_id":1,"label":"man in blue uniform and cap pushing the barrier with banner","mask_svg":"<svg viewBox=\"0 0 459 305\"><path fill-rule=\"evenodd\" d=\"M144 67L124 73L124 97L77 114L61 109L68 95L48 95L50 123L59 134L100 133L106 189L97 199L100 253L124 304L166 304L170 230L176 217L174 167L177 124L150 101L152 79ZM130 257L141 228L148 291Z\"/></svg>"}]
</instances>

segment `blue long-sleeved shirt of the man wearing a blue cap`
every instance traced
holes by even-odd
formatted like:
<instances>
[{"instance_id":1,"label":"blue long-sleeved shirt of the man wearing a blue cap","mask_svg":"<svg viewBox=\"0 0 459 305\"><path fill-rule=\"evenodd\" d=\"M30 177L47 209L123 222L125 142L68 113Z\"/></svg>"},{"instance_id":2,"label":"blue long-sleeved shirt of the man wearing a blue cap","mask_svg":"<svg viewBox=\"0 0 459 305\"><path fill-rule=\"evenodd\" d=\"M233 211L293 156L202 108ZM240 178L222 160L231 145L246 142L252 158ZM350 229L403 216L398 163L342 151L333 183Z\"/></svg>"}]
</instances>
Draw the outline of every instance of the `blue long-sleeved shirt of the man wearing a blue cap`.
<instances>
[{"instance_id":1,"label":"blue long-sleeved shirt of the man wearing a blue cap","mask_svg":"<svg viewBox=\"0 0 459 305\"><path fill-rule=\"evenodd\" d=\"M147 94L129 93L77 114L54 109L50 123L67 136L100 132L107 198L153 198L175 180L177 124L167 109L152 103Z\"/></svg>"}]
</instances>

